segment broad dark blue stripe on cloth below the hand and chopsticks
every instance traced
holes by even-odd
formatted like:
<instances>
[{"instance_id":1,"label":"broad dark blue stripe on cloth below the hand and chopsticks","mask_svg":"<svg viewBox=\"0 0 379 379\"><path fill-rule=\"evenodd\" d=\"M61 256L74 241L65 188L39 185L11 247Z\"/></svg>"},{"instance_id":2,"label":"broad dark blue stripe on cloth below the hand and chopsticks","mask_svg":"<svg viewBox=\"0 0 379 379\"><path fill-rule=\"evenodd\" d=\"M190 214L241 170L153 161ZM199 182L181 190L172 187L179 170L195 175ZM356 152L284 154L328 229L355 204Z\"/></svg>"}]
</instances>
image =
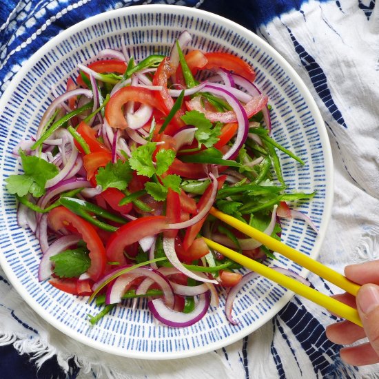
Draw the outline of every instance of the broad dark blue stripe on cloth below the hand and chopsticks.
<instances>
[{"instance_id":1,"label":"broad dark blue stripe on cloth below the hand and chopsticks","mask_svg":"<svg viewBox=\"0 0 379 379\"><path fill-rule=\"evenodd\" d=\"M289 337L285 335L280 323L284 322L291 329L293 336L303 348L302 354L307 354L316 375L322 378L349 378L358 379L357 367L345 365L340 359L340 345L330 342L325 336L325 327L319 320L307 311L298 298L294 298L280 311L278 317L274 318L274 327L289 343ZM276 353L277 354L277 353ZM278 355L278 354L277 354ZM280 357L274 356L276 362ZM278 373L283 365L277 363Z\"/></svg>"}]
</instances>

